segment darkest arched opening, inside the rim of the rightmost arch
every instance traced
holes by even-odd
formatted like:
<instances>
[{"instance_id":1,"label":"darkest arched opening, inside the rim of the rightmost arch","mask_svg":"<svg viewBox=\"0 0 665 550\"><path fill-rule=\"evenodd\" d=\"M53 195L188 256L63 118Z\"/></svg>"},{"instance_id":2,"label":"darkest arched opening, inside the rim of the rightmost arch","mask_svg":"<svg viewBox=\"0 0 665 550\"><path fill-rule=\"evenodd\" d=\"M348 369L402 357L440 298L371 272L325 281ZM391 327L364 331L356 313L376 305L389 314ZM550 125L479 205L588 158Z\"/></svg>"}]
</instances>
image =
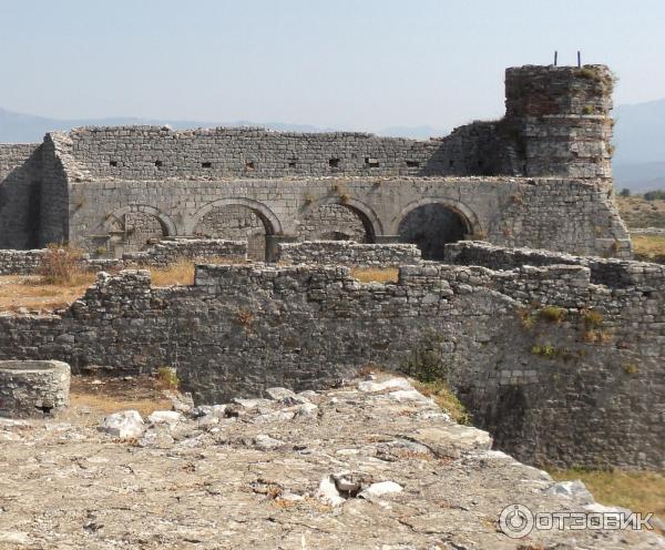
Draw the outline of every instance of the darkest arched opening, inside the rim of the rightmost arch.
<instances>
[{"instance_id":1,"label":"darkest arched opening, inside the rim of the rightmost arch","mask_svg":"<svg viewBox=\"0 0 665 550\"><path fill-rule=\"evenodd\" d=\"M446 244L461 241L470 233L463 214L439 203L417 206L398 227L400 241L418 245L424 259L443 259Z\"/></svg>"}]
</instances>

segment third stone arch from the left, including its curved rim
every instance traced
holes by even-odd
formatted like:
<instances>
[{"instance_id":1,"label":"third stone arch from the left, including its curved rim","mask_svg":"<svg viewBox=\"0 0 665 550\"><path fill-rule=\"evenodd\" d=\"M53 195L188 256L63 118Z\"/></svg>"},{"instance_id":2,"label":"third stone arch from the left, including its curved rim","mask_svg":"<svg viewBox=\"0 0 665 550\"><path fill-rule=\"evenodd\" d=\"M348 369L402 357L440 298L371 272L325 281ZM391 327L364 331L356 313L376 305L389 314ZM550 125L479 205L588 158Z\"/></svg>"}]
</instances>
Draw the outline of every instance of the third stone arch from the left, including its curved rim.
<instances>
[{"instance_id":1,"label":"third stone arch from the left, including its curved rim","mask_svg":"<svg viewBox=\"0 0 665 550\"><path fill-rule=\"evenodd\" d=\"M329 208L331 206L339 206L340 208L336 208L338 212L341 210L351 214L347 223L344 215L341 220L336 220L330 217L331 212L325 212L332 211ZM338 196L328 196L305 207L298 234L303 240L330 238L329 235L335 234L337 235L335 238L347 236L352 241L375 243L377 235L383 234L383 226L376 212L364 202L352 197L342 200Z\"/></svg>"}]
</instances>

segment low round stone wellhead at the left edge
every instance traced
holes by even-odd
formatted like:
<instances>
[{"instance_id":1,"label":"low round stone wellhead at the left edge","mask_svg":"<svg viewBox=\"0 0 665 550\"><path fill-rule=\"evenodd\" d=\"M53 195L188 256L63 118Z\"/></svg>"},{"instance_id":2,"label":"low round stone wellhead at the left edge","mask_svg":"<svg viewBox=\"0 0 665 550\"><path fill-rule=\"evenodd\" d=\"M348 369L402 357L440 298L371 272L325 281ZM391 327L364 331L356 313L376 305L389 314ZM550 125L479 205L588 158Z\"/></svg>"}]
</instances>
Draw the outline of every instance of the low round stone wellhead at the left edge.
<instances>
[{"instance_id":1,"label":"low round stone wellhead at the left edge","mask_svg":"<svg viewBox=\"0 0 665 550\"><path fill-rule=\"evenodd\" d=\"M70 366L57 360L0 361L0 417L40 418L69 405Z\"/></svg>"}]
</instances>

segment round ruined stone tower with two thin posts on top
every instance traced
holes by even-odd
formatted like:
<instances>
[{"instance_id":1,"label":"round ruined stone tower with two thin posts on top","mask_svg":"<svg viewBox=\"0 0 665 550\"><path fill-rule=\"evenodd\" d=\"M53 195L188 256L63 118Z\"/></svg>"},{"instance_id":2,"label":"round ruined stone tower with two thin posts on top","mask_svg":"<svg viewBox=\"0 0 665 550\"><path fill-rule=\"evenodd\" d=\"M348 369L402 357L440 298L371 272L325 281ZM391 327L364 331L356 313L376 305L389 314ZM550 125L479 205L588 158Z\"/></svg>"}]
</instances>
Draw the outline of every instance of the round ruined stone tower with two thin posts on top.
<instances>
[{"instance_id":1,"label":"round ruined stone tower with two thin posts on top","mask_svg":"<svg viewBox=\"0 0 665 550\"><path fill-rule=\"evenodd\" d=\"M611 185L614 77L605 65L505 70L505 129L526 176Z\"/></svg>"}]
</instances>

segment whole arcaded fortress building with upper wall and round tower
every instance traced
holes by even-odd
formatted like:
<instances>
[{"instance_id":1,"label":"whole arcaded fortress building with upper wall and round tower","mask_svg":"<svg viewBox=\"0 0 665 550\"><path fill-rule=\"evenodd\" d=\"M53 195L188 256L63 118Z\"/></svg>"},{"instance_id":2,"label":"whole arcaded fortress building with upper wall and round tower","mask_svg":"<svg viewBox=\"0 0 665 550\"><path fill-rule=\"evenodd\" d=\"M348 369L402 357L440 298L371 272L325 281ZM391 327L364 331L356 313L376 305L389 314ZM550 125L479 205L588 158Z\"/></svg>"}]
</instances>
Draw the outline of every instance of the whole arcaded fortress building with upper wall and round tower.
<instances>
[{"instance_id":1,"label":"whole arcaded fortress building with upper wall and round tower","mask_svg":"<svg viewBox=\"0 0 665 550\"><path fill-rule=\"evenodd\" d=\"M0 145L0 247L71 241L121 256L203 235L274 259L279 242L351 238L440 258L475 235L627 257L611 196L612 84L603 65L509 69L503 119L429 141L126 126Z\"/></svg>"}]
</instances>

